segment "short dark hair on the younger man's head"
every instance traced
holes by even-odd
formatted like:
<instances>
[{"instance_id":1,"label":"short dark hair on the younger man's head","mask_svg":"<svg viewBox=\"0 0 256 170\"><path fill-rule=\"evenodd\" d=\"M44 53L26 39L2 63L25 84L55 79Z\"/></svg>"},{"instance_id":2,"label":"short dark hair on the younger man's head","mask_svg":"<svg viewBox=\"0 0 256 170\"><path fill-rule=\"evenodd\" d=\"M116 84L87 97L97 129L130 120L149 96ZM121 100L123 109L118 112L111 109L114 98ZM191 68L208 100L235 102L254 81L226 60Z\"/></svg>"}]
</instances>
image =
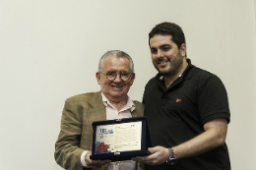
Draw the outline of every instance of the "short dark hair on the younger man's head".
<instances>
[{"instance_id":1,"label":"short dark hair on the younger man's head","mask_svg":"<svg viewBox=\"0 0 256 170\"><path fill-rule=\"evenodd\" d=\"M178 46L179 49L182 43L186 43L185 35L182 28L180 28L178 25L174 23L165 22L153 28L149 33L149 44L150 39L156 34L171 35L171 40Z\"/></svg>"}]
</instances>

